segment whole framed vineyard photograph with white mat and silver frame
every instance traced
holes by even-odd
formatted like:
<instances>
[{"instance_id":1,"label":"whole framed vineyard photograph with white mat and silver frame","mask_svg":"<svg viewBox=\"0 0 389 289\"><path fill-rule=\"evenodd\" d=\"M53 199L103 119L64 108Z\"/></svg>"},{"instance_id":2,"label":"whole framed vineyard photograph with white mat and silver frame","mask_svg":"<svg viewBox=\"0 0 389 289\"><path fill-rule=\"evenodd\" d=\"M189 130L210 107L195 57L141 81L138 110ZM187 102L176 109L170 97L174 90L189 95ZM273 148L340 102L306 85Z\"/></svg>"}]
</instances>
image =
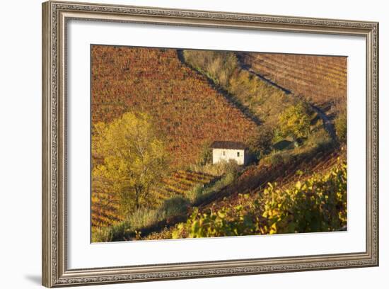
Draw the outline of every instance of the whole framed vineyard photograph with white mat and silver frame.
<instances>
[{"instance_id":1,"label":"whole framed vineyard photograph with white mat and silver frame","mask_svg":"<svg viewBox=\"0 0 389 289\"><path fill-rule=\"evenodd\" d=\"M378 23L42 4L47 287L378 266Z\"/></svg>"}]
</instances>

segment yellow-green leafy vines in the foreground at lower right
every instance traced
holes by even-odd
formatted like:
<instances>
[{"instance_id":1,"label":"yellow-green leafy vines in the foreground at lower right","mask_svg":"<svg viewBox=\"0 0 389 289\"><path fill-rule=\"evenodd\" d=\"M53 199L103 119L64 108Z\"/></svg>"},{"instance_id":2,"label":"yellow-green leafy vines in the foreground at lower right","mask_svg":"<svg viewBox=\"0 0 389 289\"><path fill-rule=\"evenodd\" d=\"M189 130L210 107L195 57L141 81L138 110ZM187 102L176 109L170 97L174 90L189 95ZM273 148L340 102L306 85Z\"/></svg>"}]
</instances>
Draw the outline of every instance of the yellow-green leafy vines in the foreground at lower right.
<instances>
[{"instance_id":1,"label":"yellow-green leafy vines in the foreground at lower right","mask_svg":"<svg viewBox=\"0 0 389 289\"><path fill-rule=\"evenodd\" d=\"M198 238L330 232L347 228L347 164L340 159L323 174L280 188L268 183L250 198L199 212L175 226L171 237Z\"/></svg>"}]
</instances>

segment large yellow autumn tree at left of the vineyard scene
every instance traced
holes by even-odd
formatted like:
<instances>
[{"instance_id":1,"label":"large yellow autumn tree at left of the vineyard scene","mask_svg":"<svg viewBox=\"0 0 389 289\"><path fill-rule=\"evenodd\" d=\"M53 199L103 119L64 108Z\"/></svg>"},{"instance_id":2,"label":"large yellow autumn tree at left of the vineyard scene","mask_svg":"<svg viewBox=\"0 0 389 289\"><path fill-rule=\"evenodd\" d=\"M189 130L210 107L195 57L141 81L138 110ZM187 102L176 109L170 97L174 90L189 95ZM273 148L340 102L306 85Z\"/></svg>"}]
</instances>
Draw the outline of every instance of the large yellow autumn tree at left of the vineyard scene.
<instances>
[{"instance_id":1,"label":"large yellow autumn tree at left of the vineyard scene","mask_svg":"<svg viewBox=\"0 0 389 289\"><path fill-rule=\"evenodd\" d=\"M123 214L151 203L167 167L166 151L149 115L124 113L93 127L93 182L120 200Z\"/></svg>"}]
</instances>

